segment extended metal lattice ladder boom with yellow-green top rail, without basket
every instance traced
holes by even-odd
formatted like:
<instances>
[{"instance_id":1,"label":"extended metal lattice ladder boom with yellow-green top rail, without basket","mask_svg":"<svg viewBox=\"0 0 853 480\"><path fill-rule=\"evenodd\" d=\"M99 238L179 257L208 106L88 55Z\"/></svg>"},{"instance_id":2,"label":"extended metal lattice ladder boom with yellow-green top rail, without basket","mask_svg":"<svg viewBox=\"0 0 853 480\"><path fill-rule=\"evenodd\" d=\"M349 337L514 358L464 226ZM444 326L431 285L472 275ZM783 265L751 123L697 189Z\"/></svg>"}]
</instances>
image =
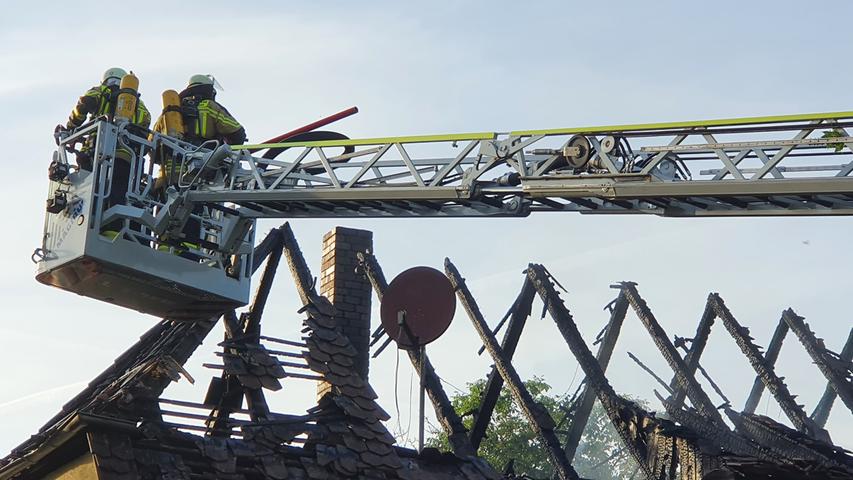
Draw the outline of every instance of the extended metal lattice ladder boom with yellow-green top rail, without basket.
<instances>
[{"instance_id":1,"label":"extended metal lattice ladder boom with yellow-green top rail, without basket","mask_svg":"<svg viewBox=\"0 0 853 480\"><path fill-rule=\"evenodd\" d=\"M837 112L234 147L284 152L244 155L187 199L251 217L850 215L851 125Z\"/></svg>"}]
</instances>

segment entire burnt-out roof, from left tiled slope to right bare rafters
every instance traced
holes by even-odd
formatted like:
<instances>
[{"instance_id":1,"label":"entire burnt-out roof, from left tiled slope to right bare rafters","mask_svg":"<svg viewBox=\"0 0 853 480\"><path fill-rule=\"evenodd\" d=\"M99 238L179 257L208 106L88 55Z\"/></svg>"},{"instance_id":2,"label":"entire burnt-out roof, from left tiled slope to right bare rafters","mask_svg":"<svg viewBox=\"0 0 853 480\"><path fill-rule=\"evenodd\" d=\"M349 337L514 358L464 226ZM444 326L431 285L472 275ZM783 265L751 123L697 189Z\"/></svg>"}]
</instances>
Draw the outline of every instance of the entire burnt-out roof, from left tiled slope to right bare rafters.
<instances>
[{"instance_id":1,"label":"entire burnt-out roof, from left tiled slope to right bare rafters","mask_svg":"<svg viewBox=\"0 0 853 480\"><path fill-rule=\"evenodd\" d=\"M367 376L369 347L361 346L362 340L369 340L369 290L372 286L381 300L388 284L372 247L364 247L372 245L369 232L341 228L335 232L341 235L337 246L327 244L334 242L331 232L324 237L319 282L324 294L317 292L317 279L290 226L273 229L255 251L253 267L264 266L264 271L247 310L185 311L163 319L36 435L0 460L0 480L48 474L59 477L69 472L109 480L517 478L509 471L497 473L477 457L503 388L511 393L544 445L556 478L580 478L572 461L592 406L599 402L641 478L853 479L853 458L832 443L826 429L834 404L853 411L853 330L841 353L835 353L802 317L788 309L763 351L723 298L712 293L694 336L671 340L638 286L622 282L613 286L618 294L608 306L610 318L593 353L559 294L560 284L538 264L527 267L509 311L490 327L459 269L449 259L445 261L445 274L482 340L481 352L487 352L493 366L469 431L453 409L433 363L425 354L409 351L415 371L423 372L426 393L452 453L402 448L385 426L389 415L379 405ZM356 244L358 249L353 248ZM346 261L341 261L344 256ZM264 310L282 259L301 300L299 313L304 315L301 330L293 338L263 333L264 323L269 322L264 320ZM337 266L340 269L334 273ZM338 274L340 278L332 278ZM339 285L342 290L327 295L326 289ZM366 302L353 292L366 295ZM554 321L585 374L582 391L562 419L552 417L532 398L513 364L537 297L545 307L543 316L547 312ZM606 375L630 311L673 371L667 383L632 357L665 391L665 395L655 391L664 407L661 414L617 394ZM204 365L215 372L204 399L164 398L171 382L182 377L192 381L184 364L220 317L225 338L218 345L218 361ZM353 323L362 317L365 325ZM701 365L718 320L756 373L742 411L734 408ZM775 371L789 332L799 339L827 381L826 391L810 415ZM379 345L378 354L389 343L380 328L370 345ZM697 373L705 376L721 403L712 400ZM314 382L316 404L300 413L272 411L267 396L287 394L288 380ZM793 428L754 413L765 390L780 404ZM565 428L560 427L563 425Z\"/></svg>"}]
</instances>

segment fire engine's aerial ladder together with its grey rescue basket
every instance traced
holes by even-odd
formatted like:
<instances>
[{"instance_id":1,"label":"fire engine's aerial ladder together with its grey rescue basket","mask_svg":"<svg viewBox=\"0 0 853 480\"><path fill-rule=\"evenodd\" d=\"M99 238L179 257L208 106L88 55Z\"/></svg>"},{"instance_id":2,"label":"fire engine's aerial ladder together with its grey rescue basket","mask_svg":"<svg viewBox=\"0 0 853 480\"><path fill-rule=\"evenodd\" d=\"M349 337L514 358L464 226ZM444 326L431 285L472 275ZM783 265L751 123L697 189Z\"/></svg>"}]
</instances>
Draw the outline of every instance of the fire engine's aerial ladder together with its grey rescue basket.
<instances>
[{"instance_id":1,"label":"fire engine's aerial ladder together with its grey rescue basket","mask_svg":"<svg viewBox=\"0 0 853 480\"><path fill-rule=\"evenodd\" d=\"M263 218L853 215L851 126L832 112L195 146L98 118L57 137L33 260L42 283L169 316L248 302ZM92 134L87 171L72 159ZM114 204L119 150L131 175ZM152 152L181 165L165 190Z\"/></svg>"}]
</instances>

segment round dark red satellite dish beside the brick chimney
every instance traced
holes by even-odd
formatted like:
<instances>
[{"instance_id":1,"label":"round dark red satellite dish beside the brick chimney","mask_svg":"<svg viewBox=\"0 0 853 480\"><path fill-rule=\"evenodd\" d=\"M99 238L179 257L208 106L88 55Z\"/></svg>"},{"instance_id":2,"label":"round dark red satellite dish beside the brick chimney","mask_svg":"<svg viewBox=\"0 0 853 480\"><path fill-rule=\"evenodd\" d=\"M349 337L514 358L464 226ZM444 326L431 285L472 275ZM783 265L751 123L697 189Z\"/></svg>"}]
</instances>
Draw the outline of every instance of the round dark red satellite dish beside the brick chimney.
<instances>
[{"instance_id":1,"label":"round dark red satellite dish beside the brick chimney","mask_svg":"<svg viewBox=\"0 0 853 480\"><path fill-rule=\"evenodd\" d=\"M413 267L397 275L382 296L382 326L400 348L426 345L443 334L456 311L456 295L447 277L431 267Z\"/></svg>"}]
</instances>

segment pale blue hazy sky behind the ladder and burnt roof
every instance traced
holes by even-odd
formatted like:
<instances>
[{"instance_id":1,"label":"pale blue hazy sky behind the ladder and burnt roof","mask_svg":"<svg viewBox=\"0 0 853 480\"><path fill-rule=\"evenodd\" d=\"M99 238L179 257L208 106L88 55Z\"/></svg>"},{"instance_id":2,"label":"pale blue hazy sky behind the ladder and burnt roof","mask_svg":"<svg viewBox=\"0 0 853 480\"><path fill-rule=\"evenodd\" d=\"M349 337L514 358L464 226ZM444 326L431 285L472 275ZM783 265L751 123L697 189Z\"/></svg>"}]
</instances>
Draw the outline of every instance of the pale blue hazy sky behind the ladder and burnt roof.
<instances>
[{"instance_id":1,"label":"pale blue hazy sky behind the ladder and burnt roof","mask_svg":"<svg viewBox=\"0 0 853 480\"><path fill-rule=\"evenodd\" d=\"M14 177L0 188L7 259L0 276L0 455L22 443L129 347L156 319L38 284L39 246L52 132L76 99L112 66L133 70L142 99L195 73L224 87L218 100L262 141L356 105L335 124L352 138L508 131L598 124L731 118L853 109L853 67L844 52L853 5L844 1L708 2L146 2L116 15L102 2L28 2L0 16L0 144ZM264 221L263 234L281 221ZM388 278L451 258L487 321L503 316L522 271L540 262L568 289L563 297L591 341L607 321L614 282L639 284L670 335L692 336L708 293L766 346L792 307L840 351L853 258L847 218L664 219L542 214L524 219L294 220L313 272L323 233L335 225L374 232ZM301 315L282 271L265 313L268 333L296 338ZM374 325L378 304L374 301ZM534 312L541 311L541 304ZM582 378L549 318L534 315L515 365L556 394ZM169 398L201 401L221 327L188 363ZM450 393L483 378L491 362L459 309L429 354ZM652 401L671 372L632 314L608 377L617 391ZM405 355L388 349L371 364L380 404L401 443L416 441L417 397ZM740 408L754 373L717 326L703 365ZM793 336L777 363L811 412L825 380ZM283 412L304 411L313 385L288 380L268 395ZM414 395L414 396L413 396ZM713 398L713 397L712 397ZM721 402L720 402L721 403ZM399 408L397 407L399 405ZM399 410L399 413L398 413ZM787 423L767 395L759 413ZM828 427L853 449L853 418L840 401Z\"/></svg>"}]
</instances>

